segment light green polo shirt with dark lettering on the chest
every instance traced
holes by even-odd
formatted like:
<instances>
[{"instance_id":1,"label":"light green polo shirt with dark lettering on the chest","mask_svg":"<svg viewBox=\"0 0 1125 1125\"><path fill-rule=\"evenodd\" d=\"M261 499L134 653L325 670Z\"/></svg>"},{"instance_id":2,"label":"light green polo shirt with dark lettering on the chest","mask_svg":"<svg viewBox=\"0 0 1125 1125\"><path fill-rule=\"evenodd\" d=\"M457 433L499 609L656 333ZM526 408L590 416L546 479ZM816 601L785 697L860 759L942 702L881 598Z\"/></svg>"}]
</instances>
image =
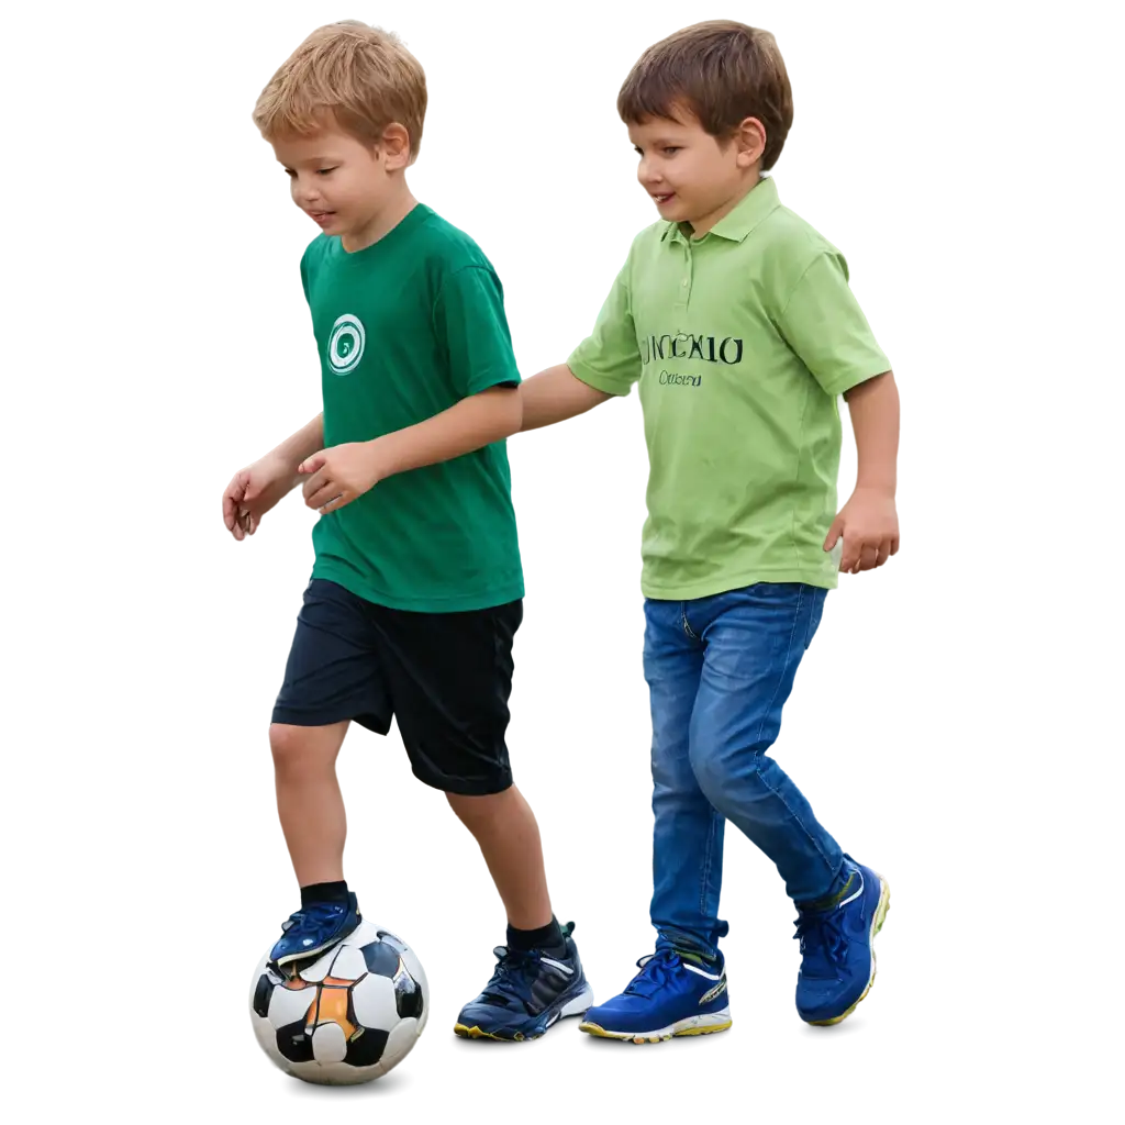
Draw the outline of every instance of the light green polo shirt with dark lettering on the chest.
<instances>
[{"instance_id":1,"label":"light green polo shirt with dark lettering on the chest","mask_svg":"<svg viewBox=\"0 0 1125 1125\"><path fill-rule=\"evenodd\" d=\"M637 395L642 597L758 582L834 590L842 396L893 367L840 252L767 177L702 238L655 220L626 243L565 362Z\"/></svg>"}]
</instances>

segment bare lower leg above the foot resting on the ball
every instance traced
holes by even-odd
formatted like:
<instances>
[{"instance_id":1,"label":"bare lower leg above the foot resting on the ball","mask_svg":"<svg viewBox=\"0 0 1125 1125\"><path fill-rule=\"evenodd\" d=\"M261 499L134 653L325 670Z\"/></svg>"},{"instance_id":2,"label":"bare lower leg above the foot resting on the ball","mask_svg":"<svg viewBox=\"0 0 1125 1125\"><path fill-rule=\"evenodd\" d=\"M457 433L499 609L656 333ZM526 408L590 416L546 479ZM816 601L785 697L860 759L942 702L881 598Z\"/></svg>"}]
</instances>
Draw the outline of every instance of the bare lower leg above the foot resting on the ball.
<instances>
[{"instance_id":1,"label":"bare lower leg above the foot resting on the ball","mask_svg":"<svg viewBox=\"0 0 1125 1125\"><path fill-rule=\"evenodd\" d=\"M348 807L335 767L348 730L348 723L267 727L273 831L296 888L346 879Z\"/></svg>"}]
</instances>

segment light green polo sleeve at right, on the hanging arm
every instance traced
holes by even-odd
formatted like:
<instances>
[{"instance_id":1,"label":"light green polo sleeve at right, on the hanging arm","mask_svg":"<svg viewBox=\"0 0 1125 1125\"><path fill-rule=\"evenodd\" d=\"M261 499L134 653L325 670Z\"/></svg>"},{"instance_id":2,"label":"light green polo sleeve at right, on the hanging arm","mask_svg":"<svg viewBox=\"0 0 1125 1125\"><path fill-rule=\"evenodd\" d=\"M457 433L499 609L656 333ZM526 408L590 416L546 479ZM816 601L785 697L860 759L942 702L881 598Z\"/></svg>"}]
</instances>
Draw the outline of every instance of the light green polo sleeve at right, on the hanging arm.
<instances>
[{"instance_id":1,"label":"light green polo sleeve at right, on the hanging arm","mask_svg":"<svg viewBox=\"0 0 1125 1125\"><path fill-rule=\"evenodd\" d=\"M852 288L843 255L825 251L801 274L778 317L790 348L829 395L843 395L894 363Z\"/></svg>"}]
</instances>

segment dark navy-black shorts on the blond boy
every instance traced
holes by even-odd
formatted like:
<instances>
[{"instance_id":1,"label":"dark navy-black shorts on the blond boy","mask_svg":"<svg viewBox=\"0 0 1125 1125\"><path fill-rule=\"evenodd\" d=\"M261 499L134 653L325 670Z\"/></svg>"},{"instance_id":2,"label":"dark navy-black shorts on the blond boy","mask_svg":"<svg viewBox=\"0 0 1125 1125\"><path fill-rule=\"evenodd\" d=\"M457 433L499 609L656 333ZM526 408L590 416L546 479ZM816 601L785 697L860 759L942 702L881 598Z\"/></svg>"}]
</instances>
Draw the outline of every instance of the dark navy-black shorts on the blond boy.
<instances>
[{"instance_id":1,"label":"dark navy-black shorts on the blond boy","mask_svg":"<svg viewBox=\"0 0 1125 1125\"><path fill-rule=\"evenodd\" d=\"M394 738L425 789L464 796L512 785L507 736L523 602L461 613L392 610L314 578L292 615L270 721L350 722Z\"/></svg>"}]
</instances>

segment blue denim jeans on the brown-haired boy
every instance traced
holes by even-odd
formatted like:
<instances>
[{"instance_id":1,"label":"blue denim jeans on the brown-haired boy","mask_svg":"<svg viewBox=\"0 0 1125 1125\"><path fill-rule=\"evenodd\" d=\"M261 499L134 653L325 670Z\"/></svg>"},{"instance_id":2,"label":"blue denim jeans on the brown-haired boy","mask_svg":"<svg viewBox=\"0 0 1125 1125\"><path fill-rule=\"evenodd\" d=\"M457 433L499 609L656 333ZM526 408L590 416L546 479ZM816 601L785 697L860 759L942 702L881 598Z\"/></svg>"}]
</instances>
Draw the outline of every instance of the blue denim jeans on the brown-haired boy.
<instances>
[{"instance_id":1,"label":"blue denim jeans on the brown-haired boy","mask_svg":"<svg viewBox=\"0 0 1125 1125\"><path fill-rule=\"evenodd\" d=\"M825 898L840 845L772 756L828 592L759 584L692 602L646 601L651 720L651 892L658 946L714 954L726 825L746 834L795 902Z\"/></svg>"}]
</instances>

